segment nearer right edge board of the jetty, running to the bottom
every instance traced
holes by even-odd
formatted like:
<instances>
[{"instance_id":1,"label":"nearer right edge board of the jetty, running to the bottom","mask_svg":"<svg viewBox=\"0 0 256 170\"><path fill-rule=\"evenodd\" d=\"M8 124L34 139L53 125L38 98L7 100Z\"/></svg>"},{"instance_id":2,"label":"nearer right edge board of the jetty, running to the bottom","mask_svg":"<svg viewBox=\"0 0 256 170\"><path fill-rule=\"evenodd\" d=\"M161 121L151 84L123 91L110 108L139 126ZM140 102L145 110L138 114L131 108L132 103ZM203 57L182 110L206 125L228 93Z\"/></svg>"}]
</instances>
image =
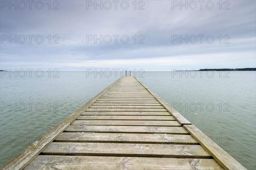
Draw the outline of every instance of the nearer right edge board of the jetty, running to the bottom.
<instances>
[{"instance_id":1,"label":"nearer right edge board of the jetty, running to the bottom","mask_svg":"<svg viewBox=\"0 0 256 170\"><path fill-rule=\"evenodd\" d=\"M227 170L246 170L246 168L218 146L194 125L184 125L186 130L212 155L215 160Z\"/></svg>"}]
</instances>

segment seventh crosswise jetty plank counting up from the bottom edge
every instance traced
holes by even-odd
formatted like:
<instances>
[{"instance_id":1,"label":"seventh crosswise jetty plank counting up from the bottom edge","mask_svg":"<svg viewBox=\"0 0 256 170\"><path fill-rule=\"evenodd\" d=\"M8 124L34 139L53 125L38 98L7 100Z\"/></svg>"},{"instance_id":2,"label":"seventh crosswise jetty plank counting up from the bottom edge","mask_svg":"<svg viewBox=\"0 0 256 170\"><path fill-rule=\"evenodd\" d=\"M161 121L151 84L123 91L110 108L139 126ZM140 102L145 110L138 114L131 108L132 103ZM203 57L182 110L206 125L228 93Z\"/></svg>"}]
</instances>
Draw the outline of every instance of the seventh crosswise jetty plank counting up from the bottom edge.
<instances>
[{"instance_id":1,"label":"seventh crosswise jetty plank counting up from the bottom edge","mask_svg":"<svg viewBox=\"0 0 256 170\"><path fill-rule=\"evenodd\" d=\"M170 116L169 112L84 112L82 115L153 115L153 116Z\"/></svg>"}]
</instances>

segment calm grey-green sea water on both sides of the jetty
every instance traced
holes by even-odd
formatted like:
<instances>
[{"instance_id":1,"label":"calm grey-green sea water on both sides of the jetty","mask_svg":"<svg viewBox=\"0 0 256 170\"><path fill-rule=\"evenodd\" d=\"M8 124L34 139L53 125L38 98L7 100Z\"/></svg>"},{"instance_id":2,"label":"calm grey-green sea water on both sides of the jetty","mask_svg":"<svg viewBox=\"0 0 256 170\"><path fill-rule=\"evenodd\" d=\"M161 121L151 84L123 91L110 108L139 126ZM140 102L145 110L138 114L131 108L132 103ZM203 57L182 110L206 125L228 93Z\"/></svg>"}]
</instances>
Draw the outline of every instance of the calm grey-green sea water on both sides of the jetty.
<instances>
[{"instance_id":1,"label":"calm grey-green sea water on both sides of the jetty","mask_svg":"<svg viewBox=\"0 0 256 170\"><path fill-rule=\"evenodd\" d=\"M0 167L120 77L120 73L108 75L2 75ZM256 169L255 71L145 72L136 76L244 167Z\"/></svg>"}]
</instances>

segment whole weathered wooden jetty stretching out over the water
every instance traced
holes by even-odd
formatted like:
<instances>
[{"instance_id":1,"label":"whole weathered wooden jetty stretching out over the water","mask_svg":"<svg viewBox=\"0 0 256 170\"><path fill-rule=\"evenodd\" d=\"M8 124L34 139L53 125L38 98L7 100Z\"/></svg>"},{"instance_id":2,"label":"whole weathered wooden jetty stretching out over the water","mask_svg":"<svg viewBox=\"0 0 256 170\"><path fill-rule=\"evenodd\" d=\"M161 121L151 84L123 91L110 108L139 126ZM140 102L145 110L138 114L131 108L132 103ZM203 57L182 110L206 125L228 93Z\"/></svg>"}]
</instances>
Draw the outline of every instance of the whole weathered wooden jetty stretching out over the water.
<instances>
[{"instance_id":1,"label":"whole weathered wooden jetty stretching out over the water","mask_svg":"<svg viewBox=\"0 0 256 170\"><path fill-rule=\"evenodd\" d=\"M120 77L7 163L7 169L245 168L138 79Z\"/></svg>"}]
</instances>

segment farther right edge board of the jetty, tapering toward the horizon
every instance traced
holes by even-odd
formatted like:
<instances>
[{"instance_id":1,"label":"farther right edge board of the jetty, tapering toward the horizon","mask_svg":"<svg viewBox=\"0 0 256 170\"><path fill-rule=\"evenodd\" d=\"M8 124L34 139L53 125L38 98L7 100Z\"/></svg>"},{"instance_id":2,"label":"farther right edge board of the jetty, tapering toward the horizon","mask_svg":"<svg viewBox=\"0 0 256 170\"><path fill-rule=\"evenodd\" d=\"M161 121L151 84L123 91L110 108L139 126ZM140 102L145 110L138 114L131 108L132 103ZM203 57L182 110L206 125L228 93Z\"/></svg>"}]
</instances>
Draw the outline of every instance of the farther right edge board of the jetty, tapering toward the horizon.
<instances>
[{"instance_id":1,"label":"farther right edge board of the jetty, tapering toward the horizon","mask_svg":"<svg viewBox=\"0 0 256 170\"><path fill-rule=\"evenodd\" d=\"M137 79L136 77L134 78ZM137 81L140 82L140 80L138 79ZM166 103L163 99L161 99L160 96L158 96L153 91L151 91L151 89L146 87L142 82L140 82L140 84L143 85L143 87L145 87L163 105L163 107L166 108L167 111L172 113L172 115L181 125L191 125L191 123L184 116L182 116L178 111L176 111L168 103Z\"/></svg>"}]
</instances>

